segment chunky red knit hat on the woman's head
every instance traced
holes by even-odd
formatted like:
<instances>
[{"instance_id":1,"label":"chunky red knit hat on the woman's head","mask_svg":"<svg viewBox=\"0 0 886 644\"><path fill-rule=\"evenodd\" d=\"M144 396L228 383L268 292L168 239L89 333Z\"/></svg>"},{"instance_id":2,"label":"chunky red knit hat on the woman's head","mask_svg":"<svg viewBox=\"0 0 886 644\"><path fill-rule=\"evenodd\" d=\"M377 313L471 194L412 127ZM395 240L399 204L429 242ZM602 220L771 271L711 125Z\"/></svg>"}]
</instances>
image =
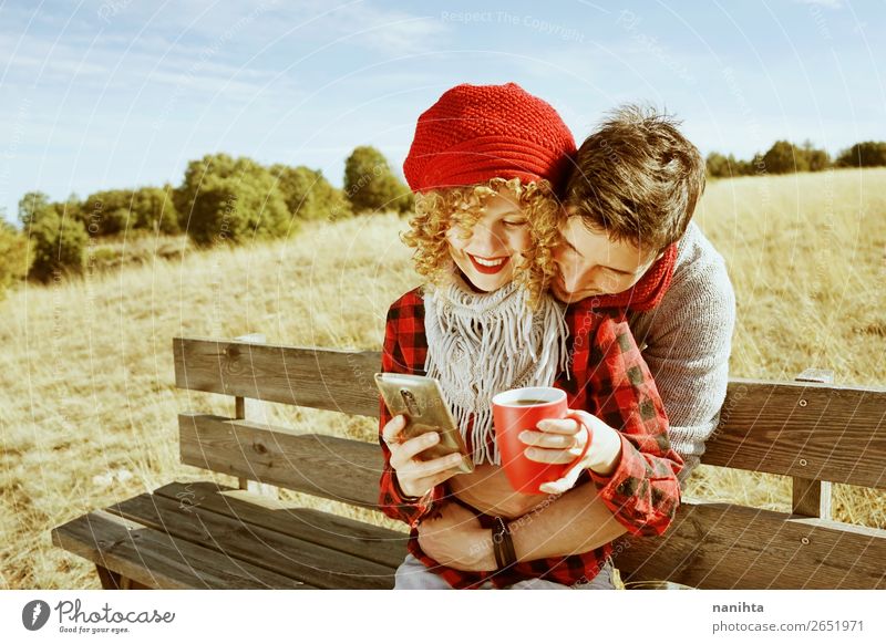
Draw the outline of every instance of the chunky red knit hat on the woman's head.
<instances>
[{"instance_id":1,"label":"chunky red knit hat on the woman's head","mask_svg":"<svg viewBox=\"0 0 886 644\"><path fill-rule=\"evenodd\" d=\"M416 193L495 177L556 188L575 149L554 107L519 85L457 85L419 117L403 173Z\"/></svg>"}]
</instances>

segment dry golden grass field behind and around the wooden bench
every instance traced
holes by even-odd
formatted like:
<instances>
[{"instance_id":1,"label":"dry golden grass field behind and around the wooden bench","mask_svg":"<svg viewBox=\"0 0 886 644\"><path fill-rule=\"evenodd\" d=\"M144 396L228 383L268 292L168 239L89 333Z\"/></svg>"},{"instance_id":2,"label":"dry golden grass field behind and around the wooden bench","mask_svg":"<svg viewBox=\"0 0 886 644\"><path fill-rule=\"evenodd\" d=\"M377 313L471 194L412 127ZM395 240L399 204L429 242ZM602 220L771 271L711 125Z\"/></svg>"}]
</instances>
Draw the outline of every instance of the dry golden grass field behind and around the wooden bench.
<instances>
[{"instance_id":1,"label":"dry golden grass field behind and around the wooden bench","mask_svg":"<svg viewBox=\"0 0 886 644\"><path fill-rule=\"evenodd\" d=\"M886 169L712 183L697 220L735 285L732 375L792 380L816 366L886 386ZM176 415L230 415L233 403L175 389L174 335L378 349L388 304L418 283L403 229L394 216L311 225L0 302L0 588L100 588L91 564L52 547L53 527L173 479L213 478L178 464ZM377 430L281 406L271 422L365 440ZM790 508L774 476L702 467L687 494ZM835 486L834 497L836 518L886 528L886 495Z\"/></svg>"}]
</instances>

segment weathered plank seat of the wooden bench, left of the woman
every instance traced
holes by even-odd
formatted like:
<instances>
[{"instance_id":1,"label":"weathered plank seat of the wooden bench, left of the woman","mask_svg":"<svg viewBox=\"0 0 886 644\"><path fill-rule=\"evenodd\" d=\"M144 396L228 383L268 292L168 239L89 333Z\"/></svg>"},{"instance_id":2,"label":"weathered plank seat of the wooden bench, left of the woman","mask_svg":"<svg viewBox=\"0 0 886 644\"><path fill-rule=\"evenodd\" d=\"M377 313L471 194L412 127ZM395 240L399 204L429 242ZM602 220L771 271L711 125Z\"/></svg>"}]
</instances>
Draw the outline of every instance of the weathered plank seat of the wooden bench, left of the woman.
<instances>
[{"instance_id":1,"label":"weathered plank seat of the wooden bench, left of the woman","mask_svg":"<svg viewBox=\"0 0 886 644\"><path fill-rule=\"evenodd\" d=\"M55 528L52 539L163 589L391 589L406 553L404 533L209 481L166 485ZM119 588L113 574L102 583Z\"/></svg>"}]
</instances>

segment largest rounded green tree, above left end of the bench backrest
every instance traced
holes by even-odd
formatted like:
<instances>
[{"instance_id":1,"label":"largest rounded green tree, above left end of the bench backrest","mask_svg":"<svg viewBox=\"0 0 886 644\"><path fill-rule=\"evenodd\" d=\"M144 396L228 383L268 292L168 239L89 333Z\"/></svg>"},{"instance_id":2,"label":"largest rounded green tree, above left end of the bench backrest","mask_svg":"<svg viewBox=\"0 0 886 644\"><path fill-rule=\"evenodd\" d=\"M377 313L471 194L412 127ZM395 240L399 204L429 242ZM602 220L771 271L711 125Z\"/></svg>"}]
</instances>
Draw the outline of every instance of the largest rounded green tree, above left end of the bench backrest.
<instances>
[{"instance_id":1,"label":"largest rounded green tree, above left end of the bench backrest","mask_svg":"<svg viewBox=\"0 0 886 644\"><path fill-rule=\"evenodd\" d=\"M274 176L246 157L190 162L173 200L179 227L197 246L280 237L293 228Z\"/></svg>"}]
</instances>

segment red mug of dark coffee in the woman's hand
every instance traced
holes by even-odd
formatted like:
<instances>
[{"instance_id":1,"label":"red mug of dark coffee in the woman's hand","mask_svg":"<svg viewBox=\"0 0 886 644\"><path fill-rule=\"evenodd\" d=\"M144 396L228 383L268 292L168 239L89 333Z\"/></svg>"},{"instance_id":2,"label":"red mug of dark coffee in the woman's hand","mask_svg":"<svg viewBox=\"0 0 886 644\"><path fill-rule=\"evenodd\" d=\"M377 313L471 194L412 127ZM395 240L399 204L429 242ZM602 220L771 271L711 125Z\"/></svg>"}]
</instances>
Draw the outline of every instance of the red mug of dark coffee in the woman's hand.
<instances>
[{"instance_id":1,"label":"red mug of dark coffee in the woman's hand","mask_svg":"<svg viewBox=\"0 0 886 644\"><path fill-rule=\"evenodd\" d=\"M538 488L546 482L559 480L574 467L590 447L591 434L581 416L569 413L566 392L556 387L523 387L497 394L492 399L495 422L495 440L502 455L507 480L516 491L525 495L544 494ZM548 418L573 418L587 433L581 455L571 463L547 464L530 460L524 454L528 447L519 439L525 429L538 432L539 420Z\"/></svg>"}]
</instances>

